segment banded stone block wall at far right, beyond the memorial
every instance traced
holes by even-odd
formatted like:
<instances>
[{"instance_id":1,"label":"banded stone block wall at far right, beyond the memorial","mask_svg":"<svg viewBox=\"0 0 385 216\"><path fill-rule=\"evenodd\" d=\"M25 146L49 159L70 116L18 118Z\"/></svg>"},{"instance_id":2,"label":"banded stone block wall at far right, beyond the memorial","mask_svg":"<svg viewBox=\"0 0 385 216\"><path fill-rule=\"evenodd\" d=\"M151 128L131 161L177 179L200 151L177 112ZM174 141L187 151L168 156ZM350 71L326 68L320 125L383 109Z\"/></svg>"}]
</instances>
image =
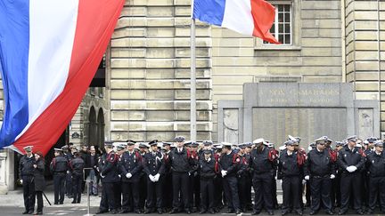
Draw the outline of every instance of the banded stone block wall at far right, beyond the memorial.
<instances>
[{"instance_id":1,"label":"banded stone block wall at far right, beyond the memorial","mask_svg":"<svg viewBox=\"0 0 385 216\"><path fill-rule=\"evenodd\" d=\"M384 10L384 1L345 1L347 82L354 84L357 100L381 101L382 138L385 131Z\"/></svg>"}]
</instances>

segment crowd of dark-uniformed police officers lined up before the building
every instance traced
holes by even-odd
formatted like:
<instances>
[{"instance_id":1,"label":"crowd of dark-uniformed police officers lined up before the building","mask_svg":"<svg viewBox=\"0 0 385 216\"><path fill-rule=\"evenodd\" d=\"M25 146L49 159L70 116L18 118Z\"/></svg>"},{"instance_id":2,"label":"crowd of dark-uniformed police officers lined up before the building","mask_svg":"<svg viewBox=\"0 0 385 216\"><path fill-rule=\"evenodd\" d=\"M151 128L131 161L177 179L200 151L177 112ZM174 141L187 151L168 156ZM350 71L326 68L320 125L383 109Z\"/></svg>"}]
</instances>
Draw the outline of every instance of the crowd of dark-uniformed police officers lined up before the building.
<instances>
[{"instance_id":1,"label":"crowd of dark-uniformed police officers lined up before the building","mask_svg":"<svg viewBox=\"0 0 385 216\"><path fill-rule=\"evenodd\" d=\"M80 202L84 190L83 171L97 196L99 181L102 197L96 213L216 213L225 206L227 213L266 210L269 215L281 208L282 215L310 215L321 209L327 214L372 214L377 206L385 213L385 156L383 141L343 141L323 136L308 147L299 148L299 137L289 136L278 149L264 139L233 145L200 144L177 136L175 143L152 140L147 143L104 143L104 151L95 148L78 151L65 146L55 148L50 164L53 172L54 204L63 204L64 194L72 204ZM30 155L20 161L20 178L30 185ZM29 167L29 168L28 168ZM32 168L30 168L32 169ZM278 205L276 180L283 189L283 204ZM251 188L254 197L251 197ZM30 188L24 187L26 212L30 213ZM27 193L27 196L26 196ZM306 203L302 195L306 193ZM253 204L252 204L253 201ZM33 212L33 208L32 208Z\"/></svg>"}]
</instances>

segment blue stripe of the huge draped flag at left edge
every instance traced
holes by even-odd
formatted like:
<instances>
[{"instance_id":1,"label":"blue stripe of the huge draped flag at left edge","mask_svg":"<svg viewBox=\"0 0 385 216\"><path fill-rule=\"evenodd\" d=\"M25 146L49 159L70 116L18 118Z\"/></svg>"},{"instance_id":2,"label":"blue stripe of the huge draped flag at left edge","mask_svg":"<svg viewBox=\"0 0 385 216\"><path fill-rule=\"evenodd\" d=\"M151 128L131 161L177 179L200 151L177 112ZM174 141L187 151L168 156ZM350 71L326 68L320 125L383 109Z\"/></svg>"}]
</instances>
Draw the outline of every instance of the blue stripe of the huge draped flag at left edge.
<instances>
[{"instance_id":1,"label":"blue stripe of the huge draped flag at left edge","mask_svg":"<svg viewBox=\"0 0 385 216\"><path fill-rule=\"evenodd\" d=\"M0 67L5 100L0 148L4 148L29 122L29 0L0 0Z\"/></svg>"}]
</instances>

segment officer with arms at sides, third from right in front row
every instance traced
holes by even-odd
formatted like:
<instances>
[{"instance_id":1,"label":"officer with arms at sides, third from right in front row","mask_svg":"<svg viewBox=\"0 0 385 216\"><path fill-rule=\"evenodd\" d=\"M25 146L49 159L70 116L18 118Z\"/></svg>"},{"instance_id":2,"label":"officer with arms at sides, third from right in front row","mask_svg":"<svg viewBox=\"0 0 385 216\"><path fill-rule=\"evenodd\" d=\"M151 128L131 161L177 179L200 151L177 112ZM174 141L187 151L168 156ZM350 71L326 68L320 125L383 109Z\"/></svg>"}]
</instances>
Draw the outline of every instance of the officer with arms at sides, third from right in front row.
<instances>
[{"instance_id":1,"label":"officer with arms at sides, third from right in front row","mask_svg":"<svg viewBox=\"0 0 385 216\"><path fill-rule=\"evenodd\" d=\"M325 149L324 138L315 140L315 149L307 154L305 163L305 180L309 180L311 189L311 212L315 214L324 206L326 213L332 215L331 187L335 178L334 162Z\"/></svg>"}]
</instances>

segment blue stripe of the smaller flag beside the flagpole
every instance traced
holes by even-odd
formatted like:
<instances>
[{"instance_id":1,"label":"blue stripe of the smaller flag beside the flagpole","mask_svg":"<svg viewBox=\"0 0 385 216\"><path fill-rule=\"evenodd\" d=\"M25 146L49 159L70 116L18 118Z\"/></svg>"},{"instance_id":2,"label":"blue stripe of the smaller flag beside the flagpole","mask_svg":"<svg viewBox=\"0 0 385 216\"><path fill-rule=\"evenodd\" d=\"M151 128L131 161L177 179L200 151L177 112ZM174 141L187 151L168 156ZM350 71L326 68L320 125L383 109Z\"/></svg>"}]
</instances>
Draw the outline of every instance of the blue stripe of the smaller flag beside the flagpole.
<instances>
[{"instance_id":1,"label":"blue stripe of the smaller flag beside the flagpole","mask_svg":"<svg viewBox=\"0 0 385 216\"><path fill-rule=\"evenodd\" d=\"M193 19L222 26L225 14L225 0L194 0Z\"/></svg>"}]
</instances>

